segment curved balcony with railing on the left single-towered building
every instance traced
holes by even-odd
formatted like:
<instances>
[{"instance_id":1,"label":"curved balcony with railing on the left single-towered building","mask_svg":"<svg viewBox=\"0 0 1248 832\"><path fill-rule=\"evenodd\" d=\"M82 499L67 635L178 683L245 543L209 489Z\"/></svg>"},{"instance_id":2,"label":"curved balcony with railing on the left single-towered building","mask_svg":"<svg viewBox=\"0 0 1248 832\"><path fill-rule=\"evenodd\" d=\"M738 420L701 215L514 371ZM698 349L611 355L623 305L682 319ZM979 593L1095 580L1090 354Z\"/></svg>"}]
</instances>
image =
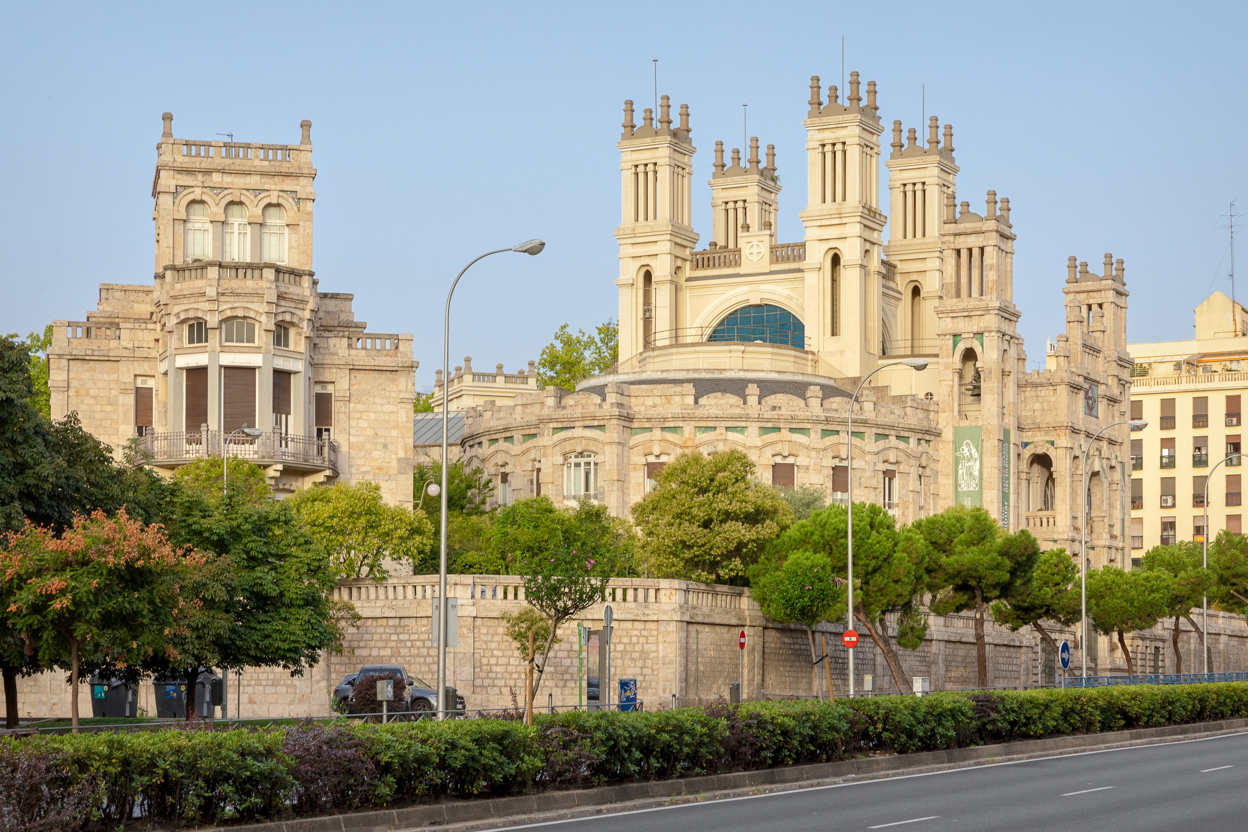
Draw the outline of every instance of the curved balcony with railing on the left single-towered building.
<instances>
[{"instance_id":1,"label":"curved balcony with railing on the left single-towered building","mask_svg":"<svg viewBox=\"0 0 1248 832\"><path fill-rule=\"evenodd\" d=\"M226 448L222 430L177 430L149 433L144 450L154 465L181 465L196 459L221 457ZM250 459L257 465L282 464L293 469L323 470L338 474L338 443L317 437L296 437L268 430L252 439L236 433L230 439L231 457Z\"/></svg>"}]
</instances>

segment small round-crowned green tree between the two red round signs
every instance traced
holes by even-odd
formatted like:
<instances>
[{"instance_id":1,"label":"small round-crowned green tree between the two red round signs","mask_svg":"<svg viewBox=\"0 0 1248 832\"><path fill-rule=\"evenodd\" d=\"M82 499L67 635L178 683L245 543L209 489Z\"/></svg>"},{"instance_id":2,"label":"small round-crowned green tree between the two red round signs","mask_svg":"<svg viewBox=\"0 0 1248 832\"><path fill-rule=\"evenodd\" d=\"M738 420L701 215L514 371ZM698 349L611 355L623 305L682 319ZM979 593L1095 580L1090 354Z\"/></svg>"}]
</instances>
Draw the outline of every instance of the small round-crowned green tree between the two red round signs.
<instances>
[{"instance_id":1,"label":"small round-crowned green tree between the two red round signs","mask_svg":"<svg viewBox=\"0 0 1248 832\"><path fill-rule=\"evenodd\" d=\"M779 565L774 560L761 560L750 568L750 595L763 607L763 615L773 621L806 627L811 690L821 690L815 664L815 627L845 615L845 588L835 580L831 559L821 551L800 549ZM827 694L831 696L832 691Z\"/></svg>"}]
</instances>

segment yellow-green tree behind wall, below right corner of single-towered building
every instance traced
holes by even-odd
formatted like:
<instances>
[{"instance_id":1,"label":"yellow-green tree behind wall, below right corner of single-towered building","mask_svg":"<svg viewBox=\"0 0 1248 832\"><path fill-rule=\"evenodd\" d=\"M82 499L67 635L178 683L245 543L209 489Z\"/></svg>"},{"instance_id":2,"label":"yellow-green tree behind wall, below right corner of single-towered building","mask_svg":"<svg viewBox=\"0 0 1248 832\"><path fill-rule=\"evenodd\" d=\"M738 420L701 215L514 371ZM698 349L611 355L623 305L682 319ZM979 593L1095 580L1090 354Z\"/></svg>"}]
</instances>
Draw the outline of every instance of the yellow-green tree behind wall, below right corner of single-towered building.
<instances>
[{"instance_id":1,"label":"yellow-green tree behind wall, below right corner of single-towered building","mask_svg":"<svg viewBox=\"0 0 1248 832\"><path fill-rule=\"evenodd\" d=\"M433 525L418 511L387 505L377 483L305 488L285 500L329 554L339 578L384 580L384 560L424 560Z\"/></svg>"}]
</instances>

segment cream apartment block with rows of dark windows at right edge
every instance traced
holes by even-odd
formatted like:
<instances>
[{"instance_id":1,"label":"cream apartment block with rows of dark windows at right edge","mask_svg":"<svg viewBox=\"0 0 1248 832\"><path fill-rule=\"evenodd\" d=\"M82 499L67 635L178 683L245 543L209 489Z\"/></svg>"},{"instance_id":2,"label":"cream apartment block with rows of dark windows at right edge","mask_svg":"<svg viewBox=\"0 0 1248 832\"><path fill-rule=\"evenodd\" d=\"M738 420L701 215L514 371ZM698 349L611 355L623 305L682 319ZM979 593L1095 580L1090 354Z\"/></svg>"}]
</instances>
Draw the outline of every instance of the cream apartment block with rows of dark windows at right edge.
<instances>
[{"instance_id":1,"label":"cream apartment block with rows of dark windows at right edge","mask_svg":"<svg viewBox=\"0 0 1248 832\"><path fill-rule=\"evenodd\" d=\"M1248 309L1222 292L1196 308L1196 337L1131 344L1131 549L1243 533ZM1223 462L1226 460L1226 462ZM1219 469L1221 463L1221 469ZM1218 470L1214 470L1218 469ZM1213 480L1209 473L1213 472ZM1209 504L1204 495L1208 486Z\"/></svg>"}]
</instances>

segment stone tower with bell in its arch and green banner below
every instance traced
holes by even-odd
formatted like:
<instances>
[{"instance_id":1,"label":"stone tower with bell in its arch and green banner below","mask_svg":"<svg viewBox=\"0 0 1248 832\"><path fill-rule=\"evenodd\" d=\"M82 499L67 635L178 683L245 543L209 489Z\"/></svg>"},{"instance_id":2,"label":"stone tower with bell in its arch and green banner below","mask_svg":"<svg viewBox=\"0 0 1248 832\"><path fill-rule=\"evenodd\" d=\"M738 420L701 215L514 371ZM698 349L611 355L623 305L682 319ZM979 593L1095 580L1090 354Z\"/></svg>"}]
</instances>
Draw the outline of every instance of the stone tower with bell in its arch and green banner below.
<instances>
[{"instance_id":1,"label":"stone tower with bell in its arch and green banner below","mask_svg":"<svg viewBox=\"0 0 1248 832\"><path fill-rule=\"evenodd\" d=\"M996 191L988 191L983 216L966 202L958 213L953 202L953 192L946 192L943 297L936 306L941 501L982 505L1016 529L1017 379L1026 357L1016 329L1010 200L1001 200L998 212Z\"/></svg>"}]
</instances>

